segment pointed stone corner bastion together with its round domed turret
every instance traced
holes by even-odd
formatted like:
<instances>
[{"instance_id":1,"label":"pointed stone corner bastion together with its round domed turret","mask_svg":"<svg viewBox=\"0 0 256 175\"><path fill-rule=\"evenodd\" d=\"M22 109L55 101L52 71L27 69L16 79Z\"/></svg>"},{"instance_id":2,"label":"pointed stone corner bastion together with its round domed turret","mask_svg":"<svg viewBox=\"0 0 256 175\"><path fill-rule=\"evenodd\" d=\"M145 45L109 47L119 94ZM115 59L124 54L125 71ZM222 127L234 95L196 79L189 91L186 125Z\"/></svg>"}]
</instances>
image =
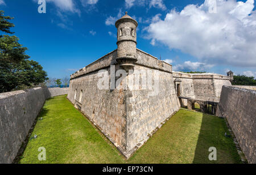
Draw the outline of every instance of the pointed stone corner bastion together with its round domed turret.
<instances>
[{"instance_id":1,"label":"pointed stone corner bastion together with its round domed turret","mask_svg":"<svg viewBox=\"0 0 256 175\"><path fill-rule=\"evenodd\" d=\"M136 48L137 22L126 14L116 27L118 49L72 74L67 98L128 158L179 110L179 102L172 65ZM118 75L121 70L125 75ZM108 75L106 89L98 87L101 71ZM152 78L144 82L143 72L150 72ZM120 77L124 78L119 81ZM119 88L135 78L137 88ZM152 89L143 88L148 82Z\"/></svg>"}]
</instances>

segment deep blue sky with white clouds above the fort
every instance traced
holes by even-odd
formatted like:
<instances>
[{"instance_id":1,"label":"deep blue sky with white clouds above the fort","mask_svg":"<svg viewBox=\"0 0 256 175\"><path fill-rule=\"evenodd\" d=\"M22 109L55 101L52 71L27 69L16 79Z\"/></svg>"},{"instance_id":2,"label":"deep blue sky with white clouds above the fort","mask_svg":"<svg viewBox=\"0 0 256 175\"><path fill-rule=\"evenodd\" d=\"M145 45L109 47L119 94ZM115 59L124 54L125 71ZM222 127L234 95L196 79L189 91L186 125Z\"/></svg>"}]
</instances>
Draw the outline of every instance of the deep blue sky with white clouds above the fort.
<instances>
[{"instance_id":1,"label":"deep blue sky with white clouds above the fort","mask_svg":"<svg viewBox=\"0 0 256 175\"><path fill-rule=\"evenodd\" d=\"M0 0L0 10L14 17L11 31L48 77L117 49L114 23L125 11L138 22L137 48L175 71L256 77L254 0L46 0L46 13L38 2Z\"/></svg>"}]
</instances>

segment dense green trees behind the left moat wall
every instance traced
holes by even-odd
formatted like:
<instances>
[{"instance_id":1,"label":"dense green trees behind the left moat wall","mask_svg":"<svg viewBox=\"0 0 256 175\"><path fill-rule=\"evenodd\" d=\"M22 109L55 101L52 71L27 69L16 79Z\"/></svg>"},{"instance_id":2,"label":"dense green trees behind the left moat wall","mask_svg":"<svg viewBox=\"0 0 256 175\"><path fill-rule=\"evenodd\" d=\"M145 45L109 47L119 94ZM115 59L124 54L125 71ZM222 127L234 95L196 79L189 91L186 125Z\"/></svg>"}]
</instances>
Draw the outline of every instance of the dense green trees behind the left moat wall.
<instances>
[{"instance_id":1,"label":"dense green trees behind the left moat wall","mask_svg":"<svg viewBox=\"0 0 256 175\"><path fill-rule=\"evenodd\" d=\"M14 24L7 20L13 19L10 16L3 16L0 11L0 30L6 33ZM0 36L0 93L13 89L34 87L45 82L46 71L38 62L28 60L27 48L19 44L16 36Z\"/></svg>"}]
</instances>

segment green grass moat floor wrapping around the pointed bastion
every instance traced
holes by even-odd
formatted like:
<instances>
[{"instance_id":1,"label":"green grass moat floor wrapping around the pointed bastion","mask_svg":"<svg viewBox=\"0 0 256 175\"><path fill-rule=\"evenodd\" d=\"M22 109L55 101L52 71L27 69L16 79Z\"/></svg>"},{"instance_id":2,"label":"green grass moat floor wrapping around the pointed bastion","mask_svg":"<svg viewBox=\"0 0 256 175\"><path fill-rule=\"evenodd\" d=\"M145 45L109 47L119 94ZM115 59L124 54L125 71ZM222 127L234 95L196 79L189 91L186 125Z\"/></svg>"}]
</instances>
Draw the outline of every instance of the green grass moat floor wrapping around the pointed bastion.
<instances>
[{"instance_id":1,"label":"green grass moat floor wrapping around the pointed bastion","mask_svg":"<svg viewBox=\"0 0 256 175\"><path fill-rule=\"evenodd\" d=\"M224 119L180 110L125 160L65 96L47 100L19 163L241 163ZM46 161L38 148L46 148ZM217 161L209 161L209 147Z\"/></svg>"}]
</instances>

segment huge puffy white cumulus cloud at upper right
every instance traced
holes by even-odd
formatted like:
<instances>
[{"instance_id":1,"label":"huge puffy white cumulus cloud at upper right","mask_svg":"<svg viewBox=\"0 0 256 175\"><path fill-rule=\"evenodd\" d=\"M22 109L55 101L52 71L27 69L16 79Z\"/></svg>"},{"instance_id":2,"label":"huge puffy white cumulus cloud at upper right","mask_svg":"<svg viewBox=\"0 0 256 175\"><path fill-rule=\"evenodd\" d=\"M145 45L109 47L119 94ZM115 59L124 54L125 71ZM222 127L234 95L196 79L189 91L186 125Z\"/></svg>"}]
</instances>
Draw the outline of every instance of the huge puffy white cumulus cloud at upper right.
<instances>
[{"instance_id":1,"label":"huge puffy white cumulus cloud at upper right","mask_svg":"<svg viewBox=\"0 0 256 175\"><path fill-rule=\"evenodd\" d=\"M254 0L213 1L188 5L181 12L171 10L163 20L158 16L146 28L151 44L160 42L200 62L256 66Z\"/></svg>"}]
</instances>

